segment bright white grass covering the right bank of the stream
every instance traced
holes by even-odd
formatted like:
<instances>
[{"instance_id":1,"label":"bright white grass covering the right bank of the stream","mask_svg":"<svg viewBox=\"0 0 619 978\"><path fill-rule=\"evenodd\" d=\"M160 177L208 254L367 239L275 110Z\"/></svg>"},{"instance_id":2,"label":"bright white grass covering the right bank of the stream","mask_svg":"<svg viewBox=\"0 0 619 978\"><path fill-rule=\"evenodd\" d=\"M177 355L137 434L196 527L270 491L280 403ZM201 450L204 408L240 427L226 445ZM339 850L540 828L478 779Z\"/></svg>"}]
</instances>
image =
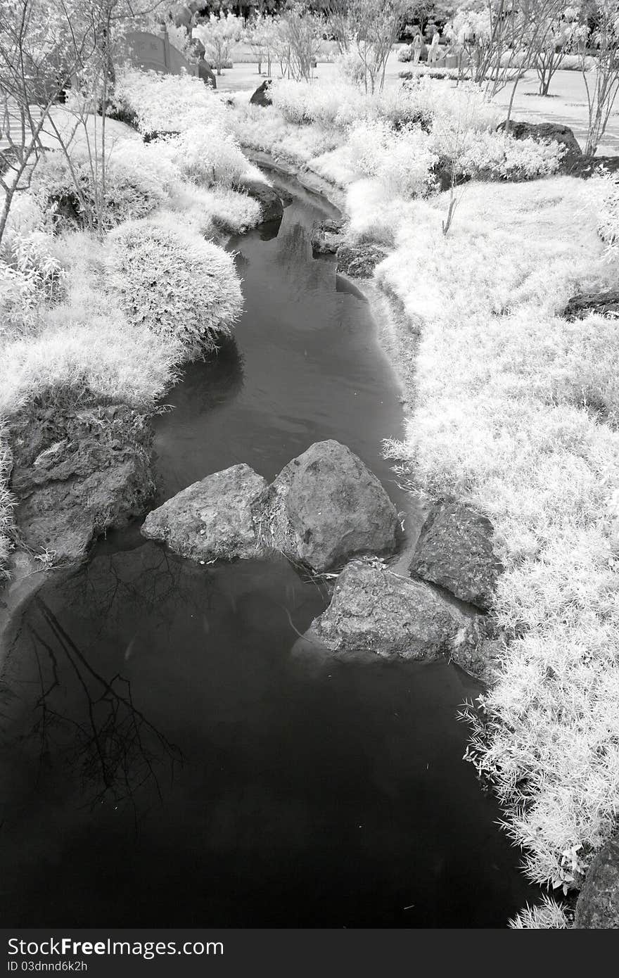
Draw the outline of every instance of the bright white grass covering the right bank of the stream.
<instances>
[{"instance_id":1,"label":"bright white grass covering the right bank of the stream","mask_svg":"<svg viewBox=\"0 0 619 978\"><path fill-rule=\"evenodd\" d=\"M440 139L470 153L464 109L441 116ZM486 513L506 567L500 668L465 711L467 756L529 878L577 889L619 811L619 324L560 317L571 295L616 281L591 196L570 177L472 181L445 235L449 194L394 193L378 168L355 170L342 138L308 158L334 130L305 121L295 135L272 110L258 136L253 111L237 111L242 140L271 139L346 186L349 237L390 251L375 281L419 346L406 437L387 450L412 490ZM544 903L522 925L560 916Z\"/></svg>"}]
</instances>

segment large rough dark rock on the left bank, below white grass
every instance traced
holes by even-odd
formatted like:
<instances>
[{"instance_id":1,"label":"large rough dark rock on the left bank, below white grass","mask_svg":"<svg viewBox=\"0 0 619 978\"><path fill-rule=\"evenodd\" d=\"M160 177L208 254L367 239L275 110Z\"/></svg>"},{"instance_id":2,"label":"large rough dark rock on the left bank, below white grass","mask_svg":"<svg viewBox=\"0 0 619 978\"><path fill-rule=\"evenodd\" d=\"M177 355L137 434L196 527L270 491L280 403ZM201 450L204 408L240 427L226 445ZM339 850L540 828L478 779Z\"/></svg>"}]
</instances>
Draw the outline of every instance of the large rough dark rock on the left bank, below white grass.
<instances>
[{"instance_id":1,"label":"large rough dark rock on the left bank, below white grass","mask_svg":"<svg viewBox=\"0 0 619 978\"><path fill-rule=\"evenodd\" d=\"M97 534L144 511L155 491L149 422L124 404L34 408L9 422L18 542L82 559Z\"/></svg>"}]
</instances>

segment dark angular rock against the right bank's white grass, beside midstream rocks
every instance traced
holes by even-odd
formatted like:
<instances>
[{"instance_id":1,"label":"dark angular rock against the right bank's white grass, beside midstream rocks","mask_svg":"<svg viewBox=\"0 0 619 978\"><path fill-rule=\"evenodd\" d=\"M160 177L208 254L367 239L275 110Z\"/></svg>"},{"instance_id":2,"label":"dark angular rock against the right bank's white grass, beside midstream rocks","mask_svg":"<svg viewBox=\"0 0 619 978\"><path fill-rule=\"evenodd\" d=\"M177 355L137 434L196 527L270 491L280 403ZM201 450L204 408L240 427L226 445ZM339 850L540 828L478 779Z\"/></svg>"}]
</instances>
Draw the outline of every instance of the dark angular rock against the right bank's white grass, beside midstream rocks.
<instances>
[{"instance_id":1,"label":"dark angular rock against the right bank's white grass, beside midstream rocks","mask_svg":"<svg viewBox=\"0 0 619 978\"><path fill-rule=\"evenodd\" d=\"M486 516L458 503L439 503L421 529L410 571L487 611L502 565Z\"/></svg>"}]
</instances>

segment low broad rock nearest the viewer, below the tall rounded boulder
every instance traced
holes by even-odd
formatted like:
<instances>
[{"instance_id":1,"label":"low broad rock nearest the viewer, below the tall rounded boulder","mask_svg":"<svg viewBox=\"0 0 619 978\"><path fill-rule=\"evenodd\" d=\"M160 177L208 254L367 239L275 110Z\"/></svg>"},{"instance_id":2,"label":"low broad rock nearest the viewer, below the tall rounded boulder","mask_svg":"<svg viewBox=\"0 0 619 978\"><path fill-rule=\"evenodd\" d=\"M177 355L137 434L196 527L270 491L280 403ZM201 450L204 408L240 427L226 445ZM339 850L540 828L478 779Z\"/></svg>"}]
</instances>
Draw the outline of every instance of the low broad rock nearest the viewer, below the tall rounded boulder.
<instances>
[{"instance_id":1,"label":"low broad rock nearest the viewer, below the tall rounded boulder","mask_svg":"<svg viewBox=\"0 0 619 978\"><path fill-rule=\"evenodd\" d=\"M449 656L471 667L482 631L428 584L411 581L377 561L353 560L337 578L332 602L304 641L332 652L432 660Z\"/></svg>"}]
</instances>

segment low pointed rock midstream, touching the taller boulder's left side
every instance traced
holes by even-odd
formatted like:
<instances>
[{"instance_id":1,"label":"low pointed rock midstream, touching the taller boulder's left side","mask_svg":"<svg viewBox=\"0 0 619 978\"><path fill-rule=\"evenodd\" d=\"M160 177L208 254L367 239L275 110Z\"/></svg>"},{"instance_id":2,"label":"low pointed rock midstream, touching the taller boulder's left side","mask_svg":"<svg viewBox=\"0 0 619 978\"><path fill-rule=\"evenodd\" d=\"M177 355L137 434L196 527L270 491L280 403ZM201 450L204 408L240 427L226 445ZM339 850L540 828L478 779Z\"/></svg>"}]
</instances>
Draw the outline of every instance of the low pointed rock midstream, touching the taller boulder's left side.
<instances>
[{"instance_id":1,"label":"low pointed rock midstream, touching the taller boulder's left side","mask_svg":"<svg viewBox=\"0 0 619 978\"><path fill-rule=\"evenodd\" d=\"M142 536L194 560L256 556L252 505L266 485L245 465L207 475L150 512Z\"/></svg>"}]
</instances>

